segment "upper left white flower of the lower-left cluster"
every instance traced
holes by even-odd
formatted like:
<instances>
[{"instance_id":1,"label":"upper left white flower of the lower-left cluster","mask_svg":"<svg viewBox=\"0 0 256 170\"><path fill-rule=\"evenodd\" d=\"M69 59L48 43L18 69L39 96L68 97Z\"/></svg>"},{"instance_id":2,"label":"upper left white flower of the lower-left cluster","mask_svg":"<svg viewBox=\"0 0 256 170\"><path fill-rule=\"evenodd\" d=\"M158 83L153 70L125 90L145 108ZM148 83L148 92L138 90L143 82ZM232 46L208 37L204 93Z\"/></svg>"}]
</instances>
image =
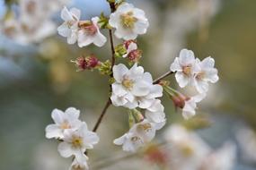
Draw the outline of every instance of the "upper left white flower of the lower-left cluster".
<instances>
[{"instance_id":1,"label":"upper left white flower of the lower-left cluster","mask_svg":"<svg viewBox=\"0 0 256 170\"><path fill-rule=\"evenodd\" d=\"M79 115L80 111L74 107L67 108L65 112L54 109L51 117L55 123L46 127L46 138L63 139L67 130L77 130L82 124L78 119Z\"/></svg>"}]
</instances>

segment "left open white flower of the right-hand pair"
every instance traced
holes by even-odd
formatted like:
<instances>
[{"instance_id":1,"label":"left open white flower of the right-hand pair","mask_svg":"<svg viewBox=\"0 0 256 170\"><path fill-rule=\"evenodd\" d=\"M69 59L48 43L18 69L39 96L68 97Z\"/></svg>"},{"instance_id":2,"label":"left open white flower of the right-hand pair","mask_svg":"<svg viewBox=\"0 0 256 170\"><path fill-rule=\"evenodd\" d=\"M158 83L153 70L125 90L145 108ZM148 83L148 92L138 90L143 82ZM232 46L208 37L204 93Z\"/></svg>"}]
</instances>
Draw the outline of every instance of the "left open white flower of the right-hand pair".
<instances>
[{"instance_id":1,"label":"left open white flower of the right-hand pair","mask_svg":"<svg viewBox=\"0 0 256 170\"><path fill-rule=\"evenodd\" d=\"M188 49L182 49L179 57L174 59L170 70L176 72L175 78L181 88L187 86L192 80L194 73L198 71L194 53Z\"/></svg>"}]
</instances>

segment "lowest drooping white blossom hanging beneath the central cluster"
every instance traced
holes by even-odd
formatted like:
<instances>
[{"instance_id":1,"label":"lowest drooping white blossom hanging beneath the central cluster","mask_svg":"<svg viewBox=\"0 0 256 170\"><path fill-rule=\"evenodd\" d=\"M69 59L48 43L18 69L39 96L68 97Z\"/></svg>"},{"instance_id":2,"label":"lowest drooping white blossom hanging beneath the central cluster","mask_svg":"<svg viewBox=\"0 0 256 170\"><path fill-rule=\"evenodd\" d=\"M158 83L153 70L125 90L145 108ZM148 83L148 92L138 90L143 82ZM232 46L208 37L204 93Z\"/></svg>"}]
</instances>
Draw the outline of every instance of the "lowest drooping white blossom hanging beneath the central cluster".
<instances>
[{"instance_id":1,"label":"lowest drooping white blossom hanging beneath the central cluster","mask_svg":"<svg viewBox=\"0 0 256 170\"><path fill-rule=\"evenodd\" d=\"M129 132L114 140L114 144L122 145L125 151L136 152L137 149L153 140L156 130L159 130L158 127L145 119L143 122L134 124Z\"/></svg>"}]
</instances>

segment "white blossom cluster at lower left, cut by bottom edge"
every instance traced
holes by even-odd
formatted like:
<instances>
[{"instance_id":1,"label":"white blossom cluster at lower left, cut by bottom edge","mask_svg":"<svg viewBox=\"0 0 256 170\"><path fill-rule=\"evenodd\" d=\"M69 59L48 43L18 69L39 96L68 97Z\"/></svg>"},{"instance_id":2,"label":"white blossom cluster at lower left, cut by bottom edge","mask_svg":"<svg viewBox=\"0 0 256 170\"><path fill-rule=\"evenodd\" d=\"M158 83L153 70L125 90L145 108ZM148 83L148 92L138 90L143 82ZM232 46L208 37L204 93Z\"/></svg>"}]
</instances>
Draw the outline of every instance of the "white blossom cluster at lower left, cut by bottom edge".
<instances>
[{"instance_id":1,"label":"white blossom cluster at lower left, cut by bottom edge","mask_svg":"<svg viewBox=\"0 0 256 170\"><path fill-rule=\"evenodd\" d=\"M46 137L60 141L57 150L62 157L74 157L71 170L88 169L86 149L93 149L99 137L88 130L85 122L79 120L80 111L69 107L65 112L54 109L51 117L54 124L46 127Z\"/></svg>"}]
</instances>

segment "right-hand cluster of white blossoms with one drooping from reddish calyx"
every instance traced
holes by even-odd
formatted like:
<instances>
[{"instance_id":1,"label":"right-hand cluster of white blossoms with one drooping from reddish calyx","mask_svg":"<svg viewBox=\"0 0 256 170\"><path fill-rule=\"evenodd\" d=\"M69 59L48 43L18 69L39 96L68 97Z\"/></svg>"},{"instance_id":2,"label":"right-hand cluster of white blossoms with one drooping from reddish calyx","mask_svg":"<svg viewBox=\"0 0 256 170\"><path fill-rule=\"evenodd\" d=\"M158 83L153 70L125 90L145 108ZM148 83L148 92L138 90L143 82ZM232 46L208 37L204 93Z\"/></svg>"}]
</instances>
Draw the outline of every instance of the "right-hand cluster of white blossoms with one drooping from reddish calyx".
<instances>
[{"instance_id":1,"label":"right-hand cluster of white blossoms with one drooping from reddish calyx","mask_svg":"<svg viewBox=\"0 0 256 170\"><path fill-rule=\"evenodd\" d=\"M195 115L197 103L206 97L208 82L218 81L217 70L214 68L215 60L208 56L203 61L195 58L193 51L182 49L179 57L176 57L170 70L175 73L176 81L181 88L192 86L197 89L198 94L188 98L181 93L172 90L172 100L175 106L181 107L182 115L188 119Z\"/></svg>"}]
</instances>

